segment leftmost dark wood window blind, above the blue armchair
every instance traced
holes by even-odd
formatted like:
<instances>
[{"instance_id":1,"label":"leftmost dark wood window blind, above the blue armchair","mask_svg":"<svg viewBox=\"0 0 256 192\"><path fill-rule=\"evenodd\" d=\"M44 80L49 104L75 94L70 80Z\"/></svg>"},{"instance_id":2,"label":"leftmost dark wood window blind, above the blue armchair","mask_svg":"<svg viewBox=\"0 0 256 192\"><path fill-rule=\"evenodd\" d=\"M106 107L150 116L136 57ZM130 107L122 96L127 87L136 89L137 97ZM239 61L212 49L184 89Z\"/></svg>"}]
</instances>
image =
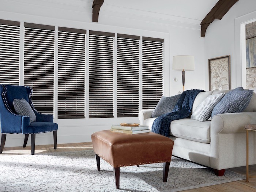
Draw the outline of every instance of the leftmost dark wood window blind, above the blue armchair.
<instances>
[{"instance_id":1,"label":"leftmost dark wood window blind, above the blue armchair","mask_svg":"<svg viewBox=\"0 0 256 192\"><path fill-rule=\"evenodd\" d=\"M0 19L0 84L19 85L20 22Z\"/></svg>"}]
</instances>

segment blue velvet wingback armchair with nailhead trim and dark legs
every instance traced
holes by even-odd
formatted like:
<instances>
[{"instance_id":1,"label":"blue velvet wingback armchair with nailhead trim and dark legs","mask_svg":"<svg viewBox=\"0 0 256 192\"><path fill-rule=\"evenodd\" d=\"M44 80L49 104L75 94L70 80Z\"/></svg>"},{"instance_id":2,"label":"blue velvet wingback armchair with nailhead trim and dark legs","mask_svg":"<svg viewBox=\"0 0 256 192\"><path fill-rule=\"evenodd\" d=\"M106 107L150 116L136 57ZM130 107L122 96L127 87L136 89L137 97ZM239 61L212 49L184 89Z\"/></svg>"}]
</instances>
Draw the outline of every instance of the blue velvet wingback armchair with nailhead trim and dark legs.
<instances>
[{"instance_id":1,"label":"blue velvet wingback armchair with nailhead trim and dark legs","mask_svg":"<svg viewBox=\"0 0 256 192\"><path fill-rule=\"evenodd\" d=\"M31 101L32 89L24 86L1 85L0 86L0 120L1 120L1 146L3 152L6 134L24 134L23 147L26 147L29 134L31 134L31 154L35 154L35 134L53 131L54 149L57 148L58 125L53 123L53 115L41 114L35 110ZM30 117L15 114L14 99L24 98L33 109L36 121L30 123Z\"/></svg>"}]
</instances>

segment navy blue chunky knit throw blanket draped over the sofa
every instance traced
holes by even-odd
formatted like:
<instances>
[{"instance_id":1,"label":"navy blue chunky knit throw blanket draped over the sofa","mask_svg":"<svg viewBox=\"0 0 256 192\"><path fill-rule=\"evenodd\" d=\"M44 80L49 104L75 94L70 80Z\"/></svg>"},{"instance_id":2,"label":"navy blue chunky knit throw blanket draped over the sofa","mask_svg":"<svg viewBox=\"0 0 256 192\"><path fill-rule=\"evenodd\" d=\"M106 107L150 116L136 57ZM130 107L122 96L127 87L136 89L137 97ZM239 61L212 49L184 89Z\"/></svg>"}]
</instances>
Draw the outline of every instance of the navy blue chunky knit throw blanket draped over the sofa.
<instances>
[{"instance_id":1,"label":"navy blue chunky knit throw blanket draped over the sofa","mask_svg":"<svg viewBox=\"0 0 256 192\"><path fill-rule=\"evenodd\" d=\"M183 91L173 111L155 119L152 125L152 132L169 137L170 123L173 120L189 117L196 95L203 91L198 89Z\"/></svg>"}]
</instances>

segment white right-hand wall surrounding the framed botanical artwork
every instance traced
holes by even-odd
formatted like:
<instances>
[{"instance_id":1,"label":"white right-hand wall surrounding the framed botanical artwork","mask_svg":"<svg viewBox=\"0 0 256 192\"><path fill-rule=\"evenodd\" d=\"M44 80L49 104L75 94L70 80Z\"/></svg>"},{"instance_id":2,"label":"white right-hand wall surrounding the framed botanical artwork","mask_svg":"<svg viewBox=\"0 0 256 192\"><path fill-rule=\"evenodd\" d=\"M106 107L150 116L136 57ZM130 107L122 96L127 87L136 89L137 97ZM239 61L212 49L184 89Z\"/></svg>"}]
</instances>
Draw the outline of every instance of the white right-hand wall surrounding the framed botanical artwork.
<instances>
[{"instance_id":1,"label":"white right-hand wall surrounding the framed botanical artwork","mask_svg":"<svg viewBox=\"0 0 256 192\"><path fill-rule=\"evenodd\" d=\"M209 89L208 59L230 55L231 89L246 87L245 24L256 19L256 1L239 0L221 19L215 19L205 35L205 87ZM244 37L243 37L244 36Z\"/></svg>"}]
</instances>

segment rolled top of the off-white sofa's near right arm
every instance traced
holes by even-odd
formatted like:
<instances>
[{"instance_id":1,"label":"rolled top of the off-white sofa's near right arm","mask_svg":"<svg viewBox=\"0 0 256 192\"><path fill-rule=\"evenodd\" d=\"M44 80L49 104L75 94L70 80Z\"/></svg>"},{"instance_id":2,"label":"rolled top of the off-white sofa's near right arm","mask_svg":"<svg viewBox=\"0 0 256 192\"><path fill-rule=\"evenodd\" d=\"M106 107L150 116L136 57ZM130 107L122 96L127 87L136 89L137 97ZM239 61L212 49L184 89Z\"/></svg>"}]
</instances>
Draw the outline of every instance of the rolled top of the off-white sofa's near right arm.
<instances>
[{"instance_id":1,"label":"rolled top of the off-white sofa's near right arm","mask_svg":"<svg viewBox=\"0 0 256 192\"><path fill-rule=\"evenodd\" d=\"M245 132L245 125L256 124L256 112L225 113L211 120L211 135Z\"/></svg>"}]
</instances>

